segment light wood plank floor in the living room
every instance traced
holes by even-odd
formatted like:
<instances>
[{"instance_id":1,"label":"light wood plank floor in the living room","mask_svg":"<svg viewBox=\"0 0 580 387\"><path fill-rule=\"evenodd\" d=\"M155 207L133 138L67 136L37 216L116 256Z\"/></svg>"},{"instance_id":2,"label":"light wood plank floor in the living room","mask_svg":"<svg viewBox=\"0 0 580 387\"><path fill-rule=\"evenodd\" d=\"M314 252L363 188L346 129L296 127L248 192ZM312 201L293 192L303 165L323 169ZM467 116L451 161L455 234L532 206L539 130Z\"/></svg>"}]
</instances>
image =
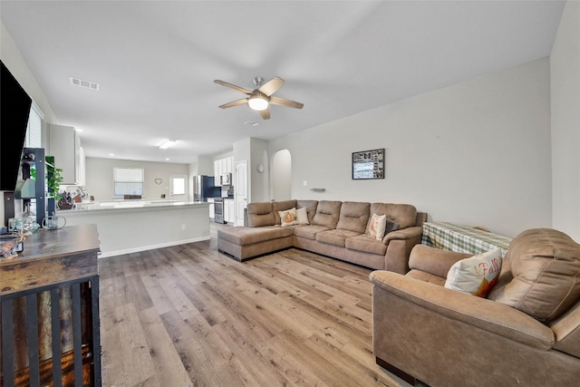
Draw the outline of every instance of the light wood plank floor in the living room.
<instances>
[{"instance_id":1,"label":"light wood plank floor in the living room","mask_svg":"<svg viewBox=\"0 0 580 387\"><path fill-rule=\"evenodd\" d=\"M212 238L99 260L103 386L401 386L372 355L371 270ZM227 226L226 226L227 227Z\"/></svg>"}]
</instances>

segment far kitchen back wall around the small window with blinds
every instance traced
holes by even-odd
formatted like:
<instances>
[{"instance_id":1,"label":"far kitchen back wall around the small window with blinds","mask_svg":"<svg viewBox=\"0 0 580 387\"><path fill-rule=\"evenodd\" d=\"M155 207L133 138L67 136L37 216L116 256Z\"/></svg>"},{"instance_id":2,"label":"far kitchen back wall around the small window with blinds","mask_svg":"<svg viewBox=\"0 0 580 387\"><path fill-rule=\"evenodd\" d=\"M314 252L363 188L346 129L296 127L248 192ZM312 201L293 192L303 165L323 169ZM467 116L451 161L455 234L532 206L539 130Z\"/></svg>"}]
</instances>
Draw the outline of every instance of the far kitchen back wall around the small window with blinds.
<instances>
[{"instance_id":1,"label":"far kitchen back wall around the small window with blinds","mask_svg":"<svg viewBox=\"0 0 580 387\"><path fill-rule=\"evenodd\" d=\"M142 168L145 169L144 198L160 198L165 194L169 198L169 175L189 175L189 164L169 162L133 161L118 159L100 159L88 157L86 165L86 189L95 200L111 200L113 190L113 169ZM160 185L155 179L162 179Z\"/></svg>"}]
</instances>

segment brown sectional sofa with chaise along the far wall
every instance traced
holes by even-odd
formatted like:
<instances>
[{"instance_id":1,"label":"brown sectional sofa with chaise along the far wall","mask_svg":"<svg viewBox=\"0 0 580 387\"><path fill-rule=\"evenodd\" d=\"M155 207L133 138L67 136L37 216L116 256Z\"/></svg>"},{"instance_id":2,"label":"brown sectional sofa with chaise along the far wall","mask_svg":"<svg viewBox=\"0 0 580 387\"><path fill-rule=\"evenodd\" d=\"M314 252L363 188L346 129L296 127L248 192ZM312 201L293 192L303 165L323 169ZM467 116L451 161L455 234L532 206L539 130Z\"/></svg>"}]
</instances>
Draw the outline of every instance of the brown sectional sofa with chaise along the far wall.
<instances>
[{"instance_id":1,"label":"brown sectional sofa with chaise along the far wall","mask_svg":"<svg viewBox=\"0 0 580 387\"><path fill-rule=\"evenodd\" d=\"M306 208L308 225L281 227L278 211ZM387 216L400 229L382 240L366 236L372 214ZM245 227L218 230L218 250L239 261L298 247L373 269L409 271L411 248L420 243L427 214L409 204L331 200L250 203Z\"/></svg>"}]
</instances>

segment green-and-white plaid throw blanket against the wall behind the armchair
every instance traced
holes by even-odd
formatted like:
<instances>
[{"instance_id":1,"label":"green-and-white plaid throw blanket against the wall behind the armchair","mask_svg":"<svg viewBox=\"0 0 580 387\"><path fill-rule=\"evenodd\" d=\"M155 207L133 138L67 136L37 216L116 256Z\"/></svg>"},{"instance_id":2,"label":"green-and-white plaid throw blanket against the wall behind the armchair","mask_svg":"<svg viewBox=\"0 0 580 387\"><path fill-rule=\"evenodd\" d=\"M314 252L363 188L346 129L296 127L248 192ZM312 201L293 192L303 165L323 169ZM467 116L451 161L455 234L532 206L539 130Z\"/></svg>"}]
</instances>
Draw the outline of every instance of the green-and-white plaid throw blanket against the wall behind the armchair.
<instances>
[{"instance_id":1,"label":"green-and-white plaid throw blanket against the wall behind the armchair","mask_svg":"<svg viewBox=\"0 0 580 387\"><path fill-rule=\"evenodd\" d=\"M510 237L481 231L473 227L448 222L423 223L421 244L443 250L476 255L499 247L501 255L505 256L509 242L511 242Z\"/></svg>"}]
</instances>

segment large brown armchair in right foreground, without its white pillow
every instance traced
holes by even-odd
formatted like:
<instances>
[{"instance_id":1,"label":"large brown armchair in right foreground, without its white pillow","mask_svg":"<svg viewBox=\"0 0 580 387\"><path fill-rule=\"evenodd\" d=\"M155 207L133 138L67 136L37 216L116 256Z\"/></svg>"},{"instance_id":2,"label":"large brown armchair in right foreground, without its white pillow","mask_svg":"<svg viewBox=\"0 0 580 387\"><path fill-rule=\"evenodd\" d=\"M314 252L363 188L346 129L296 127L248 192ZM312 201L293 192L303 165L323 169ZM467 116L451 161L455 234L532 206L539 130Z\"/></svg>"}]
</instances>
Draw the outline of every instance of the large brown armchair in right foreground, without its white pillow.
<instances>
[{"instance_id":1,"label":"large brown armchair in right foreground, without its white pillow","mask_svg":"<svg viewBox=\"0 0 580 387\"><path fill-rule=\"evenodd\" d=\"M377 363L430 386L580 382L580 245L552 229L514 238L488 298L443 287L468 254L418 245L411 271L374 271Z\"/></svg>"}]
</instances>

